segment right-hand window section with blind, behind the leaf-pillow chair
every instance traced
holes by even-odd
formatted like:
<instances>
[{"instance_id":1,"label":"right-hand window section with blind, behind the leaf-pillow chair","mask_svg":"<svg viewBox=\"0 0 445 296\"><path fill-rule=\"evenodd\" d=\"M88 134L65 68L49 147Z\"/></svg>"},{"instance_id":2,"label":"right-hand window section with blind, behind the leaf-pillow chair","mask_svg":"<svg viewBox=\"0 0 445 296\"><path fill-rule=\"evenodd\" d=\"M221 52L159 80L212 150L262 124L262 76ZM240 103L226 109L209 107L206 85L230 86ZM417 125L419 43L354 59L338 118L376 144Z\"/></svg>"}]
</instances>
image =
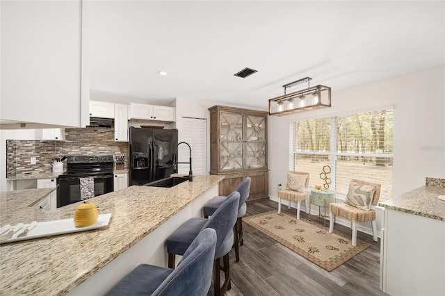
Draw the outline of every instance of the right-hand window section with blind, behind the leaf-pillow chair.
<instances>
[{"instance_id":1,"label":"right-hand window section with blind, behind the leaf-pillow chair","mask_svg":"<svg viewBox=\"0 0 445 296\"><path fill-rule=\"evenodd\" d=\"M347 193L350 179L360 179L392 197L393 122L393 110L337 117L337 191Z\"/></svg>"}]
</instances>

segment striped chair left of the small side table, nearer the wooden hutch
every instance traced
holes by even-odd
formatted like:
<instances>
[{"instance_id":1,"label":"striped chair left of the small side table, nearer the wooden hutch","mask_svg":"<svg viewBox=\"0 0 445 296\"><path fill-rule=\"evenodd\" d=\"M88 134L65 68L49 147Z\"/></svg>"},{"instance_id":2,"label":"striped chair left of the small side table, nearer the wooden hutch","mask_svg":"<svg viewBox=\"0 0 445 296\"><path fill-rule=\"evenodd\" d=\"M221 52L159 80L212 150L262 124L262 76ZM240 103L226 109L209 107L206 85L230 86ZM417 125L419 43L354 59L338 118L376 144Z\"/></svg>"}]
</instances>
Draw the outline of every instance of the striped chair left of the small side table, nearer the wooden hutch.
<instances>
[{"instance_id":1,"label":"striped chair left of the small side table, nearer the wooden hutch","mask_svg":"<svg viewBox=\"0 0 445 296\"><path fill-rule=\"evenodd\" d=\"M306 188L309 186L308 172L293 172L287 173L286 189L278 190L278 213L281 213L281 200L289 199L289 208L291 208L291 201L297 202L297 219L300 220L301 202L306 203L306 212L309 213L309 194Z\"/></svg>"}]
</instances>

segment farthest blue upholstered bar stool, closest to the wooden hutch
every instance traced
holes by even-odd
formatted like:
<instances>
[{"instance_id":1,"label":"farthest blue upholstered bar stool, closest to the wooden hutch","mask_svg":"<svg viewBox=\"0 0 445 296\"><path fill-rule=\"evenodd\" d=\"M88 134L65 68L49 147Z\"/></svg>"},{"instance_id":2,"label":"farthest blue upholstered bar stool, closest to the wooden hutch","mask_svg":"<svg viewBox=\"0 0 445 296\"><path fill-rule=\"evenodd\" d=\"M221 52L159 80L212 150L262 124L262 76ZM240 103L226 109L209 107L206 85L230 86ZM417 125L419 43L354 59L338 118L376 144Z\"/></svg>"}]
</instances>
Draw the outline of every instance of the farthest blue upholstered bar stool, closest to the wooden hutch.
<instances>
[{"instance_id":1,"label":"farthest blue upholstered bar stool, closest to the wooden hutch","mask_svg":"<svg viewBox=\"0 0 445 296\"><path fill-rule=\"evenodd\" d=\"M238 207L238 219L236 219L236 223L234 226L234 247L235 247L235 257L236 262L239 262L239 249L238 245L243 245L243 217L245 215L245 211L247 211L247 204L245 201L249 197L250 193L250 176L245 178L238 187L235 188L235 191L239 192L239 207ZM223 204L227 197L213 197L206 204L204 204L203 212L204 217L209 217L215 213L216 209Z\"/></svg>"}]
</instances>

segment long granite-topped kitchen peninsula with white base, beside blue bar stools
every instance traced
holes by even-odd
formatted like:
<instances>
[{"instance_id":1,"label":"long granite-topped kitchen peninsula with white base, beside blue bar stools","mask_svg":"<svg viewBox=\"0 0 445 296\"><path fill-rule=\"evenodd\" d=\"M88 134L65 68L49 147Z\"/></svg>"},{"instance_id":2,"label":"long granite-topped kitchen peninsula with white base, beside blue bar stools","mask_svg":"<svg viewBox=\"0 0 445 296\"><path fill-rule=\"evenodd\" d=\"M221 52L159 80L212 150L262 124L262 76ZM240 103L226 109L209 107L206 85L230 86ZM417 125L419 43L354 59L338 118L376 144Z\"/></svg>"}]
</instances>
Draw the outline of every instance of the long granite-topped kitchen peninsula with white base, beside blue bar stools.
<instances>
[{"instance_id":1,"label":"long granite-topped kitchen peninsula with white base, beside blue bar stools","mask_svg":"<svg viewBox=\"0 0 445 296\"><path fill-rule=\"evenodd\" d=\"M223 177L100 195L90 201L99 214L111 213L108 227L0 245L0 295L99 295L139 263L167 266L165 238L189 217L202 216ZM1 194L0 225L72 218L80 204L42 211L29 206L34 190L51 188Z\"/></svg>"}]
</instances>

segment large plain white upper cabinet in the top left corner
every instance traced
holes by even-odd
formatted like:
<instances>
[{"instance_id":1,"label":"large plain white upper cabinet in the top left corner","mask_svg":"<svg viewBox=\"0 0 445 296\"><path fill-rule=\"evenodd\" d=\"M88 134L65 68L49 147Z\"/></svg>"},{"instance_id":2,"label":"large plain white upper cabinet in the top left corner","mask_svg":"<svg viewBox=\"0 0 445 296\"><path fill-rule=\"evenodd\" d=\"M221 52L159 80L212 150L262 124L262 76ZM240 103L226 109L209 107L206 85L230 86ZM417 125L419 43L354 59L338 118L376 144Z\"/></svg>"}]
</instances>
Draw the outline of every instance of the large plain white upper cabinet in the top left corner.
<instances>
[{"instance_id":1,"label":"large plain white upper cabinet in the top left corner","mask_svg":"<svg viewBox=\"0 0 445 296\"><path fill-rule=\"evenodd\" d=\"M88 120L88 1L1 1L2 128ZM3 121L5 120L5 121ZM7 122L6 122L7 120Z\"/></svg>"}]
</instances>

